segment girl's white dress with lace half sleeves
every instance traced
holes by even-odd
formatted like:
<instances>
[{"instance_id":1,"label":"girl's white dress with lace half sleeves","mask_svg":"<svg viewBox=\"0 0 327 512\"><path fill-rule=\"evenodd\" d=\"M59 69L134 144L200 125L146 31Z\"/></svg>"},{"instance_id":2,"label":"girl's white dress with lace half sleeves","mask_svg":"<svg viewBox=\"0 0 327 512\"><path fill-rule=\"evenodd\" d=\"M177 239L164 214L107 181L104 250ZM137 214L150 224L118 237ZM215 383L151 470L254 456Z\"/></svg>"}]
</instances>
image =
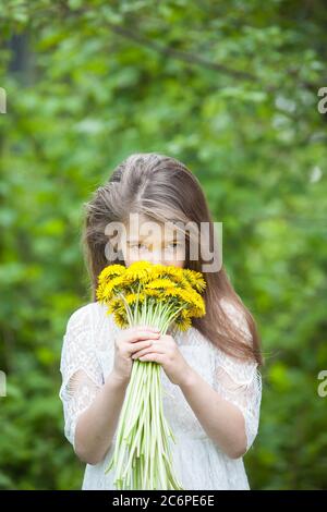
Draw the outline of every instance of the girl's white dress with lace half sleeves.
<instances>
[{"instance_id":1,"label":"girl's white dress with lace half sleeves","mask_svg":"<svg viewBox=\"0 0 327 512\"><path fill-rule=\"evenodd\" d=\"M233 321L251 337L243 316L230 303L223 304ZM114 337L119 331L113 316L98 302L80 307L69 318L59 397L63 403L64 435L73 447L78 415L92 403L113 367ZM174 332L173 338L190 366L243 413L249 450L259 420L262 378L257 364L226 355L194 327ZM161 382L165 416L177 441L171 441L174 471L183 488L250 489L243 458L230 459L207 436L180 387L168 379L162 368ZM105 475L114 441L116 434L102 462L86 464L82 489L114 489L113 471Z\"/></svg>"}]
</instances>

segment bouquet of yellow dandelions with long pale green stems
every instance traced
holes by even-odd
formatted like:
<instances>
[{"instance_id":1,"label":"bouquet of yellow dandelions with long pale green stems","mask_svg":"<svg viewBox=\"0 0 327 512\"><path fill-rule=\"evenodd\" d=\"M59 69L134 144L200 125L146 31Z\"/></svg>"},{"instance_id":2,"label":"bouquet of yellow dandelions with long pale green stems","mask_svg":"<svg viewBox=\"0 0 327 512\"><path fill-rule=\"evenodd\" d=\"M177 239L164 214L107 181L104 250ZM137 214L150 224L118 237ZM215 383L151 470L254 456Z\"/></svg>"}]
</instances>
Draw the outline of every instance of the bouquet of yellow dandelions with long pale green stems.
<instances>
[{"instance_id":1,"label":"bouquet of yellow dandelions with long pale green stems","mask_svg":"<svg viewBox=\"0 0 327 512\"><path fill-rule=\"evenodd\" d=\"M99 275L97 300L120 328L147 325L166 334L170 326L186 330L192 317L205 315L205 287L195 270L148 261L109 265ZM114 468L117 489L183 490L172 467L169 438L175 439L162 411L160 370L155 362L133 362L106 471Z\"/></svg>"}]
</instances>

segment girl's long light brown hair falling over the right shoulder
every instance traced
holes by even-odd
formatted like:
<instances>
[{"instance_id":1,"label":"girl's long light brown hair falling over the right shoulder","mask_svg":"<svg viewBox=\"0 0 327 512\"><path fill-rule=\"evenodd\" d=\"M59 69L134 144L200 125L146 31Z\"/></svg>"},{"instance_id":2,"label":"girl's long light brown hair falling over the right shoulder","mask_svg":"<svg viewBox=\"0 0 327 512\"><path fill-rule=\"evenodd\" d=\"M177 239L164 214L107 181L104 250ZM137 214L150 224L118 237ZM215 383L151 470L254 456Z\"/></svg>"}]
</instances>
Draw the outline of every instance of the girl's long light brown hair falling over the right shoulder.
<instances>
[{"instance_id":1,"label":"girl's long light brown hair falling over the right shoulder","mask_svg":"<svg viewBox=\"0 0 327 512\"><path fill-rule=\"evenodd\" d=\"M108 223L124 224L133 212L160 222L191 222L197 227L207 222L210 234L214 233L214 222L196 176L179 160L156 153L133 154L122 161L108 182L93 193L84 208L81 242L93 301L96 301L100 271L111 263L124 265L123 258L108 259L108 235L105 233ZM185 237L189 240L187 233ZM218 254L217 247L215 251ZM202 251L198 255L197 259L191 259L186 249L184 267L203 271ZM194 318L193 326L225 353L263 365L256 322L234 291L223 264L218 271L203 273L207 283L204 291L206 314ZM237 312L241 322L234 322L225 304Z\"/></svg>"}]
</instances>

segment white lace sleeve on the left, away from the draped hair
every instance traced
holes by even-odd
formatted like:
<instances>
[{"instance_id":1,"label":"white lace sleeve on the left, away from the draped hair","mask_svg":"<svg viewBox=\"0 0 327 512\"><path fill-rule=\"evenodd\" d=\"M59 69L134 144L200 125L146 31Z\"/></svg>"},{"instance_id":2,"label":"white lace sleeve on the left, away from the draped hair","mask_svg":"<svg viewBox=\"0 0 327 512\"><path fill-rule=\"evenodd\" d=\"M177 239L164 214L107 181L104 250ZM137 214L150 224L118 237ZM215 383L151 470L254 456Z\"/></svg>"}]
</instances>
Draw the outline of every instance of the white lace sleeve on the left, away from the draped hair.
<instances>
[{"instance_id":1,"label":"white lace sleeve on the left, away from the draped hair","mask_svg":"<svg viewBox=\"0 0 327 512\"><path fill-rule=\"evenodd\" d=\"M64 435L73 447L77 418L104 383L94 346L92 320L89 305L81 307L69 318L63 337L59 397L63 404Z\"/></svg>"}]
</instances>

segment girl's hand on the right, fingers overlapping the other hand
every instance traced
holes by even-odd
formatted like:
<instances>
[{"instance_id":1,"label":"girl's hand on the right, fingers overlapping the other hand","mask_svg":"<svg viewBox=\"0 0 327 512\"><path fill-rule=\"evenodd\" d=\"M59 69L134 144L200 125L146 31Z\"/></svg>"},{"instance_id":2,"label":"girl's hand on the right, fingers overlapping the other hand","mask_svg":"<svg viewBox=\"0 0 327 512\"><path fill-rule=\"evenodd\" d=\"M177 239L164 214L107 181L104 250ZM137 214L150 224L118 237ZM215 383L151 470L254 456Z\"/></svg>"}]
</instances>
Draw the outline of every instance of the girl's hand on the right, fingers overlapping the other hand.
<instances>
[{"instance_id":1,"label":"girl's hand on the right, fingers overlapping the other hand","mask_svg":"<svg viewBox=\"0 0 327 512\"><path fill-rule=\"evenodd\" d=\"M169 380L180 386L190 370L190 366L179 351L174 339L169 334L164 334L158 340L150 340L150 346L135 352L132 358L160 363Z\"/></svg>"}]
</instances>

